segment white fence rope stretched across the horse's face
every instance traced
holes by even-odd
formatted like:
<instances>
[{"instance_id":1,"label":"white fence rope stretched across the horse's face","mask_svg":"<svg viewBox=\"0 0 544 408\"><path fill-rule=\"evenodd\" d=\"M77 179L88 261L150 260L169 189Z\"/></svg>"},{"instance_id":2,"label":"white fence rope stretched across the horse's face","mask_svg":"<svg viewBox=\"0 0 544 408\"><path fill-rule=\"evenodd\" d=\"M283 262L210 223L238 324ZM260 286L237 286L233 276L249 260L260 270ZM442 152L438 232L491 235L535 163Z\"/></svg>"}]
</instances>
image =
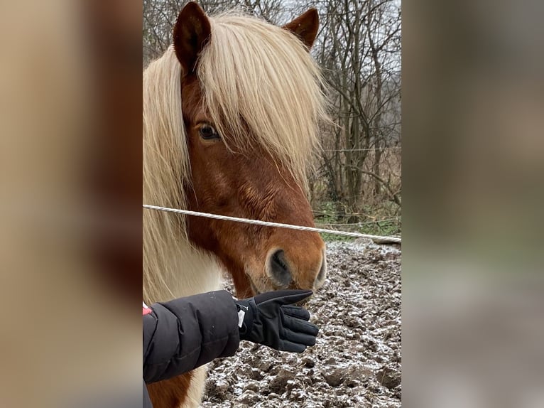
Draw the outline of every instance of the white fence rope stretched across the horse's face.
<instances>
[{"instance_id":1,"label":"white fence rope stretched across the horse's face","mask_svg":"<svg viewBox=\"0 0 544 408\"><path fill-rule=\"evenodd\" d=\"M229 217L228 215L198 213L197 211L179 210L178 208L159 207L158 205L143 204L143 208L147 208L148 210L164 211L165 213L176 213L176 214L184 214L184 215L194 215L195 217L213 218L214 220L245 222L246 224L263 225L263 227L279 227L279 228L288 228L290 230L298 230L298 231L325 232L327 234L343 235L344 237L370 238L371 240L377 240L377 241L398 242L399 244L401 243L401 237L381 237L379 235L361 234L359 232L325 230L323 228L303 227L302 225L290 225L290 224L281 224L279 222L249 220L248 218L236 218L236 217Z\"/></svg>"}]
</instances>

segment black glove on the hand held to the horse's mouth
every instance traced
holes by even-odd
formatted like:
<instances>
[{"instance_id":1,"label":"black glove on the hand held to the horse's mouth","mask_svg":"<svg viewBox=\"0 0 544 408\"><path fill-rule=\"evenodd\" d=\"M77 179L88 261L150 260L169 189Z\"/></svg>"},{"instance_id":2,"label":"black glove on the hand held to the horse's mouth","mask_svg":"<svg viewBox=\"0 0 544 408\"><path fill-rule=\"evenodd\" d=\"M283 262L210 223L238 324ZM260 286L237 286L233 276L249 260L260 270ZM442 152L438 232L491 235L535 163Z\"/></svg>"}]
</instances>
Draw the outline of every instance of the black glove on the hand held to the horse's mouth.
<instances>
[{"instance_id":1,"label":"black glove on the hand held to the horse's mouth","mask_svg":"<svg viewBox=\"0 0 544 408\"><path fill-rule=\"evenodd\" d=\"M239 325L241 340L297 353L302 353L307 345L315 345L319 329L308 322L310 313L300 306L291 306L311 295L310 290L271 291L236 301L240 320L243 318Z\"/></svg>"}]
</instances>

